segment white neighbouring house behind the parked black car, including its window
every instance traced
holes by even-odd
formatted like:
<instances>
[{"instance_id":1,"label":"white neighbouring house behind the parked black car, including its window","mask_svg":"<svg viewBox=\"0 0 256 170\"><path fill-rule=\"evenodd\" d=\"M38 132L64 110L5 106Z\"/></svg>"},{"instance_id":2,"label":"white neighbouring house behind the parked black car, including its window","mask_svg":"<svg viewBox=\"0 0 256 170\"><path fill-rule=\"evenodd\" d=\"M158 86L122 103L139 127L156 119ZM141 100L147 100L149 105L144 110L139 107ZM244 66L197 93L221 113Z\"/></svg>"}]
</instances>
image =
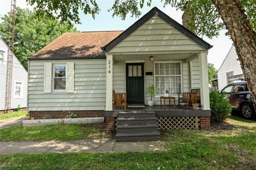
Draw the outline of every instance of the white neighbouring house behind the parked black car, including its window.
<instances>
[{"instance_id":1,"label":"white neighbouring house behind the parked black car, including its window","mask_svg":"<svg viewBox=\"0 0 256 170\"><path fill-rule=\"evenodd\" d=\"M232 46L218 70L218 88L220 90L230 83L244 81L243 71L237 59L236 48Z\"/></svg>"}]
</instances>

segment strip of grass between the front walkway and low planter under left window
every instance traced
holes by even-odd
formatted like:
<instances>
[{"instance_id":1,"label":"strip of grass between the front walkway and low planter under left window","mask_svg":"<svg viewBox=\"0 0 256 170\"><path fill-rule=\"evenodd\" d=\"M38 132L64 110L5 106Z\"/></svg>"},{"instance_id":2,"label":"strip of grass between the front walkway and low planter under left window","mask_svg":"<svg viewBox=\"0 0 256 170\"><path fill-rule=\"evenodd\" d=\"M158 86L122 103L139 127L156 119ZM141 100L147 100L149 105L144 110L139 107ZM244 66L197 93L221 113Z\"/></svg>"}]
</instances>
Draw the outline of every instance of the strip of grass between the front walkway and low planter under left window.
<instances>
[{"instance_id":1,"label":"strip of grass between the front walkway and low planter under left window","mask_svg":"<svg viewBox=\"0 0 256 170\"><path fill-rule=\"evenodd\" d=\"M0 141L67 141L109 137L102 124L65 124L38 127L10 127L0 129Z\"/></svg>"}]
</instances>

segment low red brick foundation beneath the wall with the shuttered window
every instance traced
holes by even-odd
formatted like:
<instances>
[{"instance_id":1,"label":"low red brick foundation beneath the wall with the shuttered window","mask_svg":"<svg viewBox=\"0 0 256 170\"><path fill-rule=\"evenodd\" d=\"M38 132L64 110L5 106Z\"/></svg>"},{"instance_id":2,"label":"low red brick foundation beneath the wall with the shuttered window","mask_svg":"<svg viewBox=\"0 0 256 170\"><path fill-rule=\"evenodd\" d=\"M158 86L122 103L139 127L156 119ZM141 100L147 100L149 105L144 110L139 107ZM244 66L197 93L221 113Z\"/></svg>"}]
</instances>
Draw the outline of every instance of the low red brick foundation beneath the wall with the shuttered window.
<instances>
[{"instance_id":1,"label":"low red brick foundation beneath the wall with the shuttered window","mask_svg":"<svg viewBox=\"0 0 256 170\"><path fill-rule=\"evenodd\" d=\"M68 114L74 112L77 116L86 117L104 117L104 111L29 111L29 118L38 120L45 118L65 118Z\"/></svg>"}]
</instances>

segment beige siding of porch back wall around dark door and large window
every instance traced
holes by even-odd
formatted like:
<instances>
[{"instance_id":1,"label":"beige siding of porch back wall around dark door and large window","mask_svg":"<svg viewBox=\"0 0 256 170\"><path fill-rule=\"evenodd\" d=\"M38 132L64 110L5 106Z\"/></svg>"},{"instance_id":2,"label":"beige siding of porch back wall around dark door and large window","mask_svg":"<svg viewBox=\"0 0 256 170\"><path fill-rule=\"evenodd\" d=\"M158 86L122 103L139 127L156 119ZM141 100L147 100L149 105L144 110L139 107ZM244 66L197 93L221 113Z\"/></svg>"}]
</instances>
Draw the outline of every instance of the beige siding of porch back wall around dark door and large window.
<instances>
[{"instance_id":1,"label":"beige siding of porch back wall around dark door and large window","mask_svg":"<svg viewBox=\"0 0 256 170\"><path fill-rule=\"evenodd\" d=\"M115 61L113 64L113 90L115 90L116 93L126 92L125 72L125 61ZM148 100L150 100L150 95L148 95L148 86L154 84L154 75L145 75L145 72L154 73L154 61L144 62L145 104L147 105ZM182 91L191 91L189 62L182 61L182 79ZM154 101L156 105L160 104L159 97L154 97Z\"/></svg>"}]
</instances>

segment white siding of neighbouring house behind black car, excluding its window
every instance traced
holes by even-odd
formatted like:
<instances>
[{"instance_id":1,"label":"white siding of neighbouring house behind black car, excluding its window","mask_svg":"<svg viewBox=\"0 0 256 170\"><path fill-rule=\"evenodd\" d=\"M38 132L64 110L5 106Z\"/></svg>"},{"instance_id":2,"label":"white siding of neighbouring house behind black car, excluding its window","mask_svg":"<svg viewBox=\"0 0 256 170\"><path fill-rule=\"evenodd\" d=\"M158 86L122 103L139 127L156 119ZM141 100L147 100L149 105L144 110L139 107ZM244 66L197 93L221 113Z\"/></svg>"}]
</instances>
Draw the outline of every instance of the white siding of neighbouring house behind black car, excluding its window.
<instances>
[{"instance_id":1,"label":"white siding of neighbouring house behind black car, excluding its window","mask_svg":"<svg viewBox=\"0 0 256 170\"><path fill-rule=\"evenodd\" d=\"M240 62L237 61L237 58L236 49L232 46L218 70L219 89L223 89L227 86L227 72L234 72L234 75L243 73Z\"/></svg>"}]
</instances>

